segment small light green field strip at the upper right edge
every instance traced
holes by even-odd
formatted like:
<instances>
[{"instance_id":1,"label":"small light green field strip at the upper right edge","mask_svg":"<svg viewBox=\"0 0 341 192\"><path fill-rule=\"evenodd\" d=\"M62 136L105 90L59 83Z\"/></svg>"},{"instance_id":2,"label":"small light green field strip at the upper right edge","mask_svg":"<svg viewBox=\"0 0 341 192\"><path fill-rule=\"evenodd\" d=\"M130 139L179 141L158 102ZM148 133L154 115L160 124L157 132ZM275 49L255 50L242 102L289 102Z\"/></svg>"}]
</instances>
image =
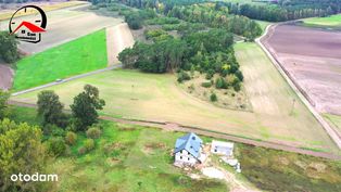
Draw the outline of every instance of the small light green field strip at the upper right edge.
<instances>
[{"instance_id":1,"label":"small light green field strip at the upper right edge","mask_svg":"<svg viewBox=\"0 0 341 192\"><path fill-rule=\"evenodd\" d=\"M341 14L303 20L305 26L341 28Z\"/></svg>"}]
</instances>

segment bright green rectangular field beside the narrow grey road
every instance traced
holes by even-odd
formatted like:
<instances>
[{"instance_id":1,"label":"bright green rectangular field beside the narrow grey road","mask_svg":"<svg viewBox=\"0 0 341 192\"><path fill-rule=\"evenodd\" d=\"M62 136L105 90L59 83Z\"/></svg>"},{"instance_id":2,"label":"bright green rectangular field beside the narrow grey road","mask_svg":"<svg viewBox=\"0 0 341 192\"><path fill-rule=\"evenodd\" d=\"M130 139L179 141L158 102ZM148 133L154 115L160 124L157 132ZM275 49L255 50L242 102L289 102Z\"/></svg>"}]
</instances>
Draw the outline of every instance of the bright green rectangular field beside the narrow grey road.
<instances>
[{"instance_id":1,"label":"bright green rectangular field beside the narrow grey road","mask_svg":"<svg viewBox=\"0 0 341 192\"><path fill-rule=\"evenodd\" d=\"M105 30L99 30L18 61L13 91L104 68L105 38Z\"/></svg>"}]
</instances>

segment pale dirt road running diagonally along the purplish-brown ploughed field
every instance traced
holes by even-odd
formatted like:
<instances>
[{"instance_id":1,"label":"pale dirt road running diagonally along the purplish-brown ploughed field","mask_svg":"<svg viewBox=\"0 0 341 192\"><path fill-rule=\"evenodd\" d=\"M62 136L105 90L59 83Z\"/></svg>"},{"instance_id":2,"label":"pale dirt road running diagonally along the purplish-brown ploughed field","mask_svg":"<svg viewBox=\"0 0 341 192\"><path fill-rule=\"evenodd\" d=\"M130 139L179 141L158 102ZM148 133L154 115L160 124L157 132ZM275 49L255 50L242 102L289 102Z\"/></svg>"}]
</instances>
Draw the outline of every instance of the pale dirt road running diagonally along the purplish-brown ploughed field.
<instances>
[{"instance_id":1,"label":"pale dirt road running diagonally along the purplish-brown ploughed field","mask_svg":"<svg viewBox=\"0 0 341 192\"><path fill-rule=\"evenodd\" d=\"M285 23L282 23L285 24ZM324 119L324 117L315 110L315 107L312 105L312 103L308 101L307 98L304 97L304 93L300 90L300 87L295 84L294 79L291 78L290 74L282 67L281 63L276 59L275 55L271 54L271 52L266 48L266 46L263 44L262 40L265 38L268 38L269 29L274 29L281 24L271 24L268 25L265 29L265 33L257 39L255 39L256 43L262 48L262 50L265 52L265 54L268 56L268 59L271 61L274 66L277 68L277 71L281 74L281 76L286 79L286 81L289 84L289 86L293 89L293 91L296 93L299 99L304 103L304 105L310 110L310 112L314 115L315 119L323 126L323 128L326 130L328 136L331 138L331 140L337 144L339 150L341 149L341 138L336 132L336 130Z\"/></svg>"}]
</instances>

